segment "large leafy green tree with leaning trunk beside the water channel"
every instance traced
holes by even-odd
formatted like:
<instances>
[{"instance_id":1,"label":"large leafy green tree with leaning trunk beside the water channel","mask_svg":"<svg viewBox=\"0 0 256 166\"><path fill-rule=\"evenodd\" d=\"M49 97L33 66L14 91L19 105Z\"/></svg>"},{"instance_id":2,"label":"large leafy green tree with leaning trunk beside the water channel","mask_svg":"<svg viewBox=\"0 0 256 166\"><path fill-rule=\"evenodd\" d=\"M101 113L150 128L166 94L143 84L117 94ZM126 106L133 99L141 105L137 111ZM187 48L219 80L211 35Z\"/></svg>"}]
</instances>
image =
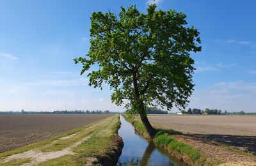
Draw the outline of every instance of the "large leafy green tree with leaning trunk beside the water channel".
<instances>
[{"instance_id":1,"label":"large leafy green tree with leaning trunk beside the water channel","mask_svg":"<svg viewBox=\"0 0 256 166\"><path fill-rule=\"evenodd\" d=\"M99 11L90 19L90 50L75 63L83 64L81 74L97 66L88 73L89 85L102 89L102 83L109 84L112 102L139 114L153 137L147 106L184 109L189 102L195 70L190 53L201 50L199 32L186 26L184 13L156 10L156 4L147 13L121 6L118 16Z\"/></svg>"}]
</instances>

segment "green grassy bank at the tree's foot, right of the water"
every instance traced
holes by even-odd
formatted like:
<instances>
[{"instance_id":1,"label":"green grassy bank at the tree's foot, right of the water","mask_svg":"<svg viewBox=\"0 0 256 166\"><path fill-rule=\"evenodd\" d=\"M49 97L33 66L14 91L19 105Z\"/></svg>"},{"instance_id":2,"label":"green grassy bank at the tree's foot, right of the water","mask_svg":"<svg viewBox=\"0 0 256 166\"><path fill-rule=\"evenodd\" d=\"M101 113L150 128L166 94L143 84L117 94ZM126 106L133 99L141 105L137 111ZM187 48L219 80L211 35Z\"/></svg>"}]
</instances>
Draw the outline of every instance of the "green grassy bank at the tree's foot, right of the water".
<instances>
[{"instance_id":1,"label":"green grassy bank at the tree's foot, right of the water","mask_svg":"<svg viewBox=\"0 0 256 166\"><path fill-rule=\"evenodd\" d=\"M143 137L149 139L148 133L143 126L143 123L139 119L126 114L124 115L124 118L134 125L134 128L137 130L137 132L142 133ZM196 149L193 149L191 146L173 139L172 135L170 135L170 132L166 130L157 129L154 142L158 146L162 146L167 149L170 154L176 158L179 158L180 160L183 160L190 165L216 165L221 163L221 161L212 161L211 163L206 162L206 157L204 154L200 153Z\"/></svg>"}]
</instances>

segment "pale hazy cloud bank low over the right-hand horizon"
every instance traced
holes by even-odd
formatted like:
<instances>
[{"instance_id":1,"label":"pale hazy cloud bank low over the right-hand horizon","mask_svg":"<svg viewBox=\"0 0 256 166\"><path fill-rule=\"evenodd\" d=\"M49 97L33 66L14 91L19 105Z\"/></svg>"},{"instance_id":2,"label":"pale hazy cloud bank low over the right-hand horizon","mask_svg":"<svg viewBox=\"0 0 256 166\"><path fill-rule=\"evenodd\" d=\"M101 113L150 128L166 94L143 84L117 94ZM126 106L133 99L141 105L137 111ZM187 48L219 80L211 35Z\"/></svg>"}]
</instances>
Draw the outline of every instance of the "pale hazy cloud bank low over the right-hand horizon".
<instances>
[{"instance_id":1,"label":"pale hazy cloud bank low over the right-hand horizon","mask_svg":"<svg viewBox=\"0 0 256 166\"><path fill-rule=\"evenodd\" d=\"M228 112L255 112L256 82L216 82L209 87L195 87L189 107L221 109Z\"/></svg>"}]
</instances>

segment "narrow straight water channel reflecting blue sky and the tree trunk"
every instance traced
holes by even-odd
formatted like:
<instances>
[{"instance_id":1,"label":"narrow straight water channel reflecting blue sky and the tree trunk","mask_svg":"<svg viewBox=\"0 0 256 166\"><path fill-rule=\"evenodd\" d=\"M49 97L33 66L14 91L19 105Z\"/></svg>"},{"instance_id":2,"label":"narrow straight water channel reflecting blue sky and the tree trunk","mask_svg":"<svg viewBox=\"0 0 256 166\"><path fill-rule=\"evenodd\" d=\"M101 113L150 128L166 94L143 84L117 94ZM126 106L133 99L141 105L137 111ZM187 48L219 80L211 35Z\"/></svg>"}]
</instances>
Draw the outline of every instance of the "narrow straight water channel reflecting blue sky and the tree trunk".
<instances>
[{"instance_id":1,"label":"narrow straight water channel reflecting blue sky and the tree trunk","mask_svg":"<svg viewBox=\"0 0 256 166\"><path fill-rule=\"evenodd\" d=\"M118 134L124 141L122 154L117 165L186 165L168 155L164 149L156 147L154 142L140 137L134 127L120 116L121 127Z\"/></svg>"}]
</instances>

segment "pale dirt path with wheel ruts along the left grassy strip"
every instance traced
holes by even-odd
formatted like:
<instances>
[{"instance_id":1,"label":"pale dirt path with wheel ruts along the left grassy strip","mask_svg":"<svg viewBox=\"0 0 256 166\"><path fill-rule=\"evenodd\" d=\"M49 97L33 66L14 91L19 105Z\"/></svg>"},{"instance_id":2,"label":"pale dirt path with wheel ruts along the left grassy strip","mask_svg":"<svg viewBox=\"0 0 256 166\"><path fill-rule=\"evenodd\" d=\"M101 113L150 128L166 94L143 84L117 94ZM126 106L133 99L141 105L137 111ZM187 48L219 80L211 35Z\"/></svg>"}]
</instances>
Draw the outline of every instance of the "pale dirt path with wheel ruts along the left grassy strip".
<instances>
[{"instance_id":1,"label":"pale dirt path with wheel ruts along the left grassy strip","mask_svg":"<svg viewBox=\"0 0 256 166\"><path fill-rule=\"evenodd\" d=\"M103 126L106 126L111 121L111 119L112 118L104 119L104 121L100 121L97 124L93 124L93 126L90 126L80 132L74 133L72 135L68 135L67 137L61 137L58 140L70 139L70 138L74 137L75 135L77 135L78 133L85 132L86 130L89 130L92 128L97 130L97 128L102 128ZM15 155L8 156L8 157L4 158L3 160L0 160L0 163L6 163L6 162L11 162L13 160L30 158L31 161L29 163L25 163L24 166L25 165L36 165L40 162L45 162L47 160L51 160L54 158L60 158L61 156L74 155L72 148L76 147L79 144L81 144L82 142L90 139L90 137L92 137L92 135L93 135L93 133L90 133L89 135L84 137L82 140L77 141L75 144L72 144L72 146L66 147L65 149L62 149L61 151L42 152L39 150L40 148L42 148L42 147L40 147L40 148L36 148L36 149L31 149L29 151L25 151L24 153L18 153ZM58 140L56 140L56 141L58 141ZM56 141L54 141L54 142L56 142ZM51 144L53 144L54 142L51 142ZM49 146L49 144L47 144L45 146Z\"/></svg>"}]
</instances>

